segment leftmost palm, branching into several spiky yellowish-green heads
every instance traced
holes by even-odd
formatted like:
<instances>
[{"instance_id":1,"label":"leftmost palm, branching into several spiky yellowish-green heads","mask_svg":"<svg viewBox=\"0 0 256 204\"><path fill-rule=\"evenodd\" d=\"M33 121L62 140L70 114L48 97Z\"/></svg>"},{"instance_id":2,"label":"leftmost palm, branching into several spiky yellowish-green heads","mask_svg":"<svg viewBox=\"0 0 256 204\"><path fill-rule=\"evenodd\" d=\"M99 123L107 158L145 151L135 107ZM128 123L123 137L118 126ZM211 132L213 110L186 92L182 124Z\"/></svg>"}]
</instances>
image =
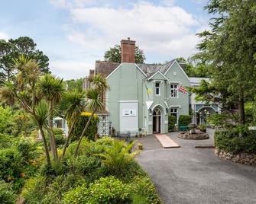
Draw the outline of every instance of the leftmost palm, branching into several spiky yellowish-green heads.
<instances>
[{"instance_id":1,"label":"leftmost palm, branching into several spiky yellowish-green heads","mask_svg":"<svg viewBox=\"0 0 256 204\"><path fill-rule=\"evenodd\" d=\"M0 89L0 96L5 100L13 97L11 100L18 100L24 110L31 114L41 132L47 164L50 164L50 154L43 129L44 120L46 118L45 114L43 114L45 107L44 104L40 104L41 98L36 89L37 80L41 75L40 69L37 62L25 56L19 56L18 59L15 60L14 68L18 71L15 82L5 84L5 86Z\"/></svg>"}]
</instances>

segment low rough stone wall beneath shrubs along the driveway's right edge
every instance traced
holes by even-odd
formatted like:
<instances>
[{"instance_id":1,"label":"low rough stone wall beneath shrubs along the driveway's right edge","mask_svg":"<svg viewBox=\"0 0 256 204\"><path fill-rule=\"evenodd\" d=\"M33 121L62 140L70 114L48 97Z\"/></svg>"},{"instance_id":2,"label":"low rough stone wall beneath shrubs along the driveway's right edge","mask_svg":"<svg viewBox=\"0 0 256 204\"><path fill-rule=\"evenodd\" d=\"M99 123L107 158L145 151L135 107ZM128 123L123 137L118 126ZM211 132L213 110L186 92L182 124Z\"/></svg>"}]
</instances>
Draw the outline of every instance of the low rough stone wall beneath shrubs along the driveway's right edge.
<instances>
[{"instance_id":1,"label":"low rough stone wall beneath shrubs along the driveway's right edge","mask_svg":"<svg viewBox=\"0 0 256 204\"><path fill-rule=\"evenodd\" d=\"M229 152L225 152L223 150L215 149L215 155L225 161L232 161L235 163L247 164L247 165L256 165L256 155L254 154L250 155L250 154L240 153L235 155Z\"/></svg>"}]
</instances>

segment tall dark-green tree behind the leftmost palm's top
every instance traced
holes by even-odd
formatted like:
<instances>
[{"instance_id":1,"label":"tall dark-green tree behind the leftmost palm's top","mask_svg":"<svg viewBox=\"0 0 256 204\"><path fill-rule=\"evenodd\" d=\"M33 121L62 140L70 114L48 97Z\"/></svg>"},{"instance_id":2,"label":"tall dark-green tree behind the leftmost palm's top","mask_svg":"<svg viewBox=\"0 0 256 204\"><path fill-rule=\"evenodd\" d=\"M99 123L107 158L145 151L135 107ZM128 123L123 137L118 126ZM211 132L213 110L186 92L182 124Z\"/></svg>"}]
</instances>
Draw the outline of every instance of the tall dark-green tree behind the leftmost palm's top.
<instances>
[{"instance_id":1,"label":"tall dark-green tree behind the leftmost palm's top","mask_svg":"<svg viewBox=\"0 0 256 204\"><path fill-rule=\"evenodd\" d=\"M37 48L30 37L18 37L13 40L0 40L0 84L4 81L10 81L14 77L14 61L18 56L24 55L28 59L34 59L37 62L40 72L49 72L49 59L42 51Z\"/></svg>"}]
</instances>

